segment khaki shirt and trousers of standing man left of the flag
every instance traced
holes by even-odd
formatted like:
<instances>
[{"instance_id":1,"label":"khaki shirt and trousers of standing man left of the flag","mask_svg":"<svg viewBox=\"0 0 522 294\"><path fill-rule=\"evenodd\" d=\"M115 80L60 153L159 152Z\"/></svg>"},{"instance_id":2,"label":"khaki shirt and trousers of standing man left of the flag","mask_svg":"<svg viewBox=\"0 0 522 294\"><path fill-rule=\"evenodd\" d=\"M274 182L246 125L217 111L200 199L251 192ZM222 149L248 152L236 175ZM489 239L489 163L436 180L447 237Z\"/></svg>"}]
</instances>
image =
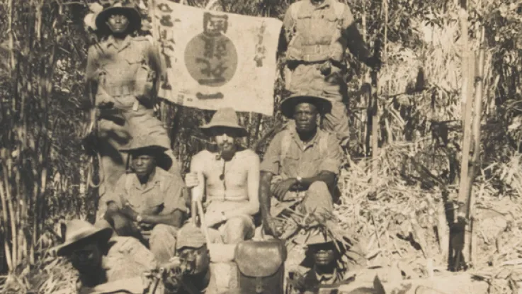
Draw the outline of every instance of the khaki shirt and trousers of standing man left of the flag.
<instances>
[{"instance_id":1,"label":"khaki shirt and trousers of standing man left of the flag","mask_svg":"<svg viewBox=\"0 0 522 294\"><path fill-rule=\"evenodd\" d=\"M126 154L119 152L132 137L150 134L157 142L170 149L171 142L160 120L154 116L154 80L160 71L157 51L144 37L125 38L119 45L112 36L89 48L86 79L97 84L96 106L113 105L123 111L125 122L110 119L98 120L100 169L103 183L100 196L113 189L120 176L125 173ZM156 77L154 77L154 75ZM90 84L90 83L89 83ZM174 154L170 171L179 174L179 165ZM101 201L103 202L103 201ZM100 213L103 215L103 212Z\"/></svg>"}]
</instances>

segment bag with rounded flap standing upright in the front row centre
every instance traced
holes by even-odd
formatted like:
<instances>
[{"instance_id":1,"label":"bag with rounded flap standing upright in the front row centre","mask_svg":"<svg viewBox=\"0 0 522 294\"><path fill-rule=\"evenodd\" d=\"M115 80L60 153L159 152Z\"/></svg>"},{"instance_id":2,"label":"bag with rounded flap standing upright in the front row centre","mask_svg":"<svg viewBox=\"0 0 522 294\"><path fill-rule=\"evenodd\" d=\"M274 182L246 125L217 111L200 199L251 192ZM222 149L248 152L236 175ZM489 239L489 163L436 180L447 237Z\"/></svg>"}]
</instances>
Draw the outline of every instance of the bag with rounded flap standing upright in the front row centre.
<instances>
[{"instance_id":1,"label":"bag with rounded flap standing upright in the front row centre","mask_svg":"<svg viewBox=\"0 0 522 294\"><path fill-rule=\"evenodd\" d=\"M286 260L285 243L280 239L244 241L237 244L239 290L243 294L283 294Z\"/></svg>"}]
</instances>

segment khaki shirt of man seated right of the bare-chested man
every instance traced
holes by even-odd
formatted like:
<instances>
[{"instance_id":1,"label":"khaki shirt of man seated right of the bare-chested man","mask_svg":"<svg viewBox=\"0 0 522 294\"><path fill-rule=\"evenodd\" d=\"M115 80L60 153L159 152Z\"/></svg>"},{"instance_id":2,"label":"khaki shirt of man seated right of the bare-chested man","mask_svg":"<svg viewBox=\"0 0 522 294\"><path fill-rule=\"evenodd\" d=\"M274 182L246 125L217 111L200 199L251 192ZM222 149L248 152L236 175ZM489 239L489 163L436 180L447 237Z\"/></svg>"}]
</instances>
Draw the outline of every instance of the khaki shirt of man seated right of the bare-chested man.
<instances>
[{"instance_id":1,"label":"khaki shirt of man seated right of the bare-chested man","mask_svg":"<svg viewBox=\"0 0 522 294\"><path fill-rule=\"evenodd\" d=\"M317 128L317 134L310 142L302 142L295 130L290 132L291 139L288 152L281 162L282 141L285 132L279 132L268 145L263 162L261 162L261 171L269 171L275 175L281 175L283 178L309 178L317 176L321 171L330 171L339 174L343 152L339 146L339 141L335 135ZM319 140L327 140L327 148L320 150ZM322 152L321 152L322 151Z\"/></svg>"}]
</instances>

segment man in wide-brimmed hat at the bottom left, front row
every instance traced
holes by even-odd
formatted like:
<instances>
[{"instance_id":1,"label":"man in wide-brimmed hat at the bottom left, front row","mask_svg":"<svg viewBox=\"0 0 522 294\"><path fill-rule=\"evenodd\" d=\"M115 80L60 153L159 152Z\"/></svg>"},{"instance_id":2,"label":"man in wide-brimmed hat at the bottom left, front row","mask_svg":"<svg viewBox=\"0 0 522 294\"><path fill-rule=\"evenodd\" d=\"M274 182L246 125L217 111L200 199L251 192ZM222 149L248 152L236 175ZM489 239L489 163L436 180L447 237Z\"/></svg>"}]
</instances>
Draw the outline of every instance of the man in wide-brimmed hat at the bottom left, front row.
<instances>
[{"instance_id":1,"label":"man in wide-brimmed hat at the bottom left, front row","mask_svg":"<svg viewBox=\"0 0 522 294\"><path fill-rule=\"evenodd\" d=\"M78 271L78 293L143 293L140 281L156 268L154 254L134 238L112 234L104 220L96 227L85 220L67 223L65 242L55 249Z\"/></svg>"}]
</instances>

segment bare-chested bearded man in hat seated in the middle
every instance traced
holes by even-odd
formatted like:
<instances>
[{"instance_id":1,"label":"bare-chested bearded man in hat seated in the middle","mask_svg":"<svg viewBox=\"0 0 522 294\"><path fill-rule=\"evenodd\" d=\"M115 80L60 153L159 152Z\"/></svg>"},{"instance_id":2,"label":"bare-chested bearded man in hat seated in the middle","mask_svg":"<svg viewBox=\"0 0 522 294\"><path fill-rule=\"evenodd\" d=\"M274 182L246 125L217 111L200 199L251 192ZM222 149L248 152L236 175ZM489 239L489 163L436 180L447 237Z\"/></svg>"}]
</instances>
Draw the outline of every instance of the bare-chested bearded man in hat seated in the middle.
<instances>
[{"instance_id":1,"label":"bare-chested bearded man in hat seated in the middle","mask_svg":"<svg viewBox=\"0 0 522 294\"><path fill-rule=\"evenodd\" d=\"M205 225L217 229L225 244L251 239L253 216L259 211L259 156L236 141L246 130L238 124L232 108L218 110L210 123L200 128L216 143L217 152L195 154L186 184L198 186L194 194L205 191ZM193 197L201 199L201 195Z\"/></svg>"}]
</instances>

